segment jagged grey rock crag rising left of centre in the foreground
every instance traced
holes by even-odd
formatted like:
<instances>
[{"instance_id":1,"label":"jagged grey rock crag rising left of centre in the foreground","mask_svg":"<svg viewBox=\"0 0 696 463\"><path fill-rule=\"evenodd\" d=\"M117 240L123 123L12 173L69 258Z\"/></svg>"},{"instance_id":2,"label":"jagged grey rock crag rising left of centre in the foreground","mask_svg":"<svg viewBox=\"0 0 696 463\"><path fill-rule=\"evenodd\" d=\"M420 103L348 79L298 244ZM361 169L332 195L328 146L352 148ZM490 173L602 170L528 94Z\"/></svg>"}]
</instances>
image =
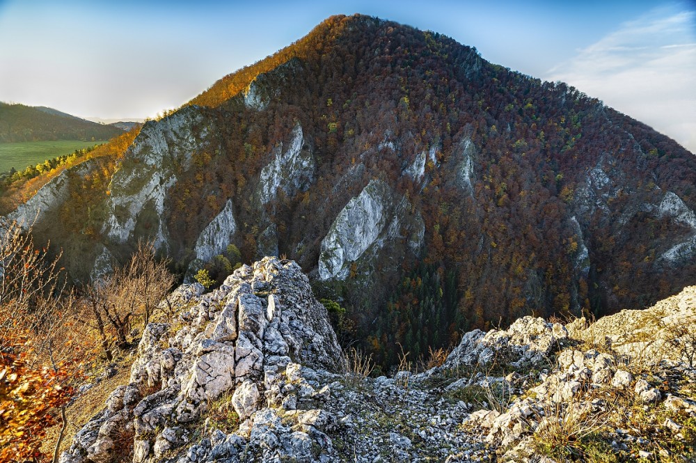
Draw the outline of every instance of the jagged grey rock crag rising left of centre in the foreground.
<instances>
[{"instance_id":1,"label":"jagged grey rock crag rising left of centre in the foreground","mask_svg":"<svg viewBox=\"0 0 696 463\"><path fill-rule=\"evenodd\" d=\"M275 419L270 405L285 402L294 409L298 396L315 394L306 377L330 375L324 369L338 370L342 361L326 309L298 265L265 258L237 269L218 290L201 295L200 285L184 285L171 300L186 308L183 327L173 332L168 324L148 324L130 384L113 391L61 462L108 462L120 450L113 437L127 430L134 432L134 461L159 462L187 443L183 427L203 427L205 414L221 402L237 413L239 430L230 436L216 431L182 450L181 462L230 458L250 442L269 457L298 461L313 461L317 446L328 451L319 431L295 431L279 422L273 432L267 429ZM145 388L157 392L142 398ZM308 430L331 421L325 413L294 420Z\"/></svg>"}]
</instances>

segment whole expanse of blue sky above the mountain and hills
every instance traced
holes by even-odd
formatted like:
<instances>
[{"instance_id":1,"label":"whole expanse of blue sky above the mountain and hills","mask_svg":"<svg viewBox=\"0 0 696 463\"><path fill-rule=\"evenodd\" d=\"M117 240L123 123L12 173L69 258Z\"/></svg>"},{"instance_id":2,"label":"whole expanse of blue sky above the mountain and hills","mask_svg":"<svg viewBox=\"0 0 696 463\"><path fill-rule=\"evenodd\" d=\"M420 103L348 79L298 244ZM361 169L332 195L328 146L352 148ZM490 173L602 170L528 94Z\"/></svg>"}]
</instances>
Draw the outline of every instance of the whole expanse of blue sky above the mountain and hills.
<instances>
[{"instance_id":1,"label":"whole expanse of blue sky above the mountain and hills","mask_svg":"<svg viewBox=\"0 0 696 463\"><path fill-rule=\"evenodd\" d=\"M696 152L692 1L0 0L0 100L144 118L334 14L431 29L563 80Z\"/></svg>"}]
</instances>

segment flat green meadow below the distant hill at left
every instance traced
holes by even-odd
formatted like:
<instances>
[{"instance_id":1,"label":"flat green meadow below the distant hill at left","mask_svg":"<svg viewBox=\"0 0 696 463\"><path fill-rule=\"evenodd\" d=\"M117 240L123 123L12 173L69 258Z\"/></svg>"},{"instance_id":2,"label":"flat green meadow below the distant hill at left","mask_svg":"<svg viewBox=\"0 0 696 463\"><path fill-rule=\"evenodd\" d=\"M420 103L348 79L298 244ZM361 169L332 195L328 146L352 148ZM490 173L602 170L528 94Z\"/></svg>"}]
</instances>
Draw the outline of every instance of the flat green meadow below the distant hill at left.
<instances>
[{"instance_id":1,"label":"flat green meadow below the distant hill at left","mask_svg":"<svg viewBox=\"0 0 696 463\"><path fill-rule=\"evenodd\" d=\"M69 155L74 150L95 146L104 141L56 140L21 141L0 143L0 173L15 168L22 171L26 166L44 162L46 159Z\"/></svg>"}]
</instances>

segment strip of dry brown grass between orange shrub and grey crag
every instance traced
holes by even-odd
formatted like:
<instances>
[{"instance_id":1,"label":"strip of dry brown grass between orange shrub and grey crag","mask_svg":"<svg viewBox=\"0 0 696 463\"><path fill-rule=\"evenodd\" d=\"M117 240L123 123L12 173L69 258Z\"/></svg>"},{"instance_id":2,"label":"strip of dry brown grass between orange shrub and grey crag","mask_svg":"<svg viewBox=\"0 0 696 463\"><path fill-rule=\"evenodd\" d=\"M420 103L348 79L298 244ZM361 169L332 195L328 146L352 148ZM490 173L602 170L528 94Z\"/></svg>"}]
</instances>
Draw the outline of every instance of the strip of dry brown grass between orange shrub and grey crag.
<instances>
[{"instance_id":1,"label":"strip of dry brown grass between orange shrub and grey crag","mask_svg":"<svg viewBox=\"0 0 696 463\"><path fill-rule=\"evenodd\" d=\"M68 427L65 430L65 439L61 446L61 452L68 450L72 439L82 426L87 423L90 418L95 416L98 411L104 407L104 402L109 398L111 392L117 386L128 384L130 377L130 366L132 359L123 359L117 365L118 373L111 378L104 379L102 382L95 384L91 389L80 395L70 407L68 407ZM47 455L53 455L58 433L61 432L61 425L49 427L46 430L46 439L41 446L41 452Z\"/></svg>"}]
</instances>

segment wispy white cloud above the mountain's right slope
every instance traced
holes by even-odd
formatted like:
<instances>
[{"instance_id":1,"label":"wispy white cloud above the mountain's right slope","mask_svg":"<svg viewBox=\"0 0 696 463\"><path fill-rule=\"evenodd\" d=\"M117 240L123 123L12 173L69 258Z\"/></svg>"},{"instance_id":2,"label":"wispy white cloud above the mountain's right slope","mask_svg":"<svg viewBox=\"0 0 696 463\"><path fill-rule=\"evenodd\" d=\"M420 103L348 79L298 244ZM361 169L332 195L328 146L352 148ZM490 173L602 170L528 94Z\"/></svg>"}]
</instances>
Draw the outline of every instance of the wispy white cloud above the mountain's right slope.
<instances>
[{"instance_id":1,"label":"wispy white cloud above the mountain's right slope","mask_svg":"<svg viewBox=\"0 0 696 463\"><path fill-rule=\"evenodd\" d=\"M696 12L659 8L544 76L598 97L696 152Z\"/></svg>"}]
</instances>

